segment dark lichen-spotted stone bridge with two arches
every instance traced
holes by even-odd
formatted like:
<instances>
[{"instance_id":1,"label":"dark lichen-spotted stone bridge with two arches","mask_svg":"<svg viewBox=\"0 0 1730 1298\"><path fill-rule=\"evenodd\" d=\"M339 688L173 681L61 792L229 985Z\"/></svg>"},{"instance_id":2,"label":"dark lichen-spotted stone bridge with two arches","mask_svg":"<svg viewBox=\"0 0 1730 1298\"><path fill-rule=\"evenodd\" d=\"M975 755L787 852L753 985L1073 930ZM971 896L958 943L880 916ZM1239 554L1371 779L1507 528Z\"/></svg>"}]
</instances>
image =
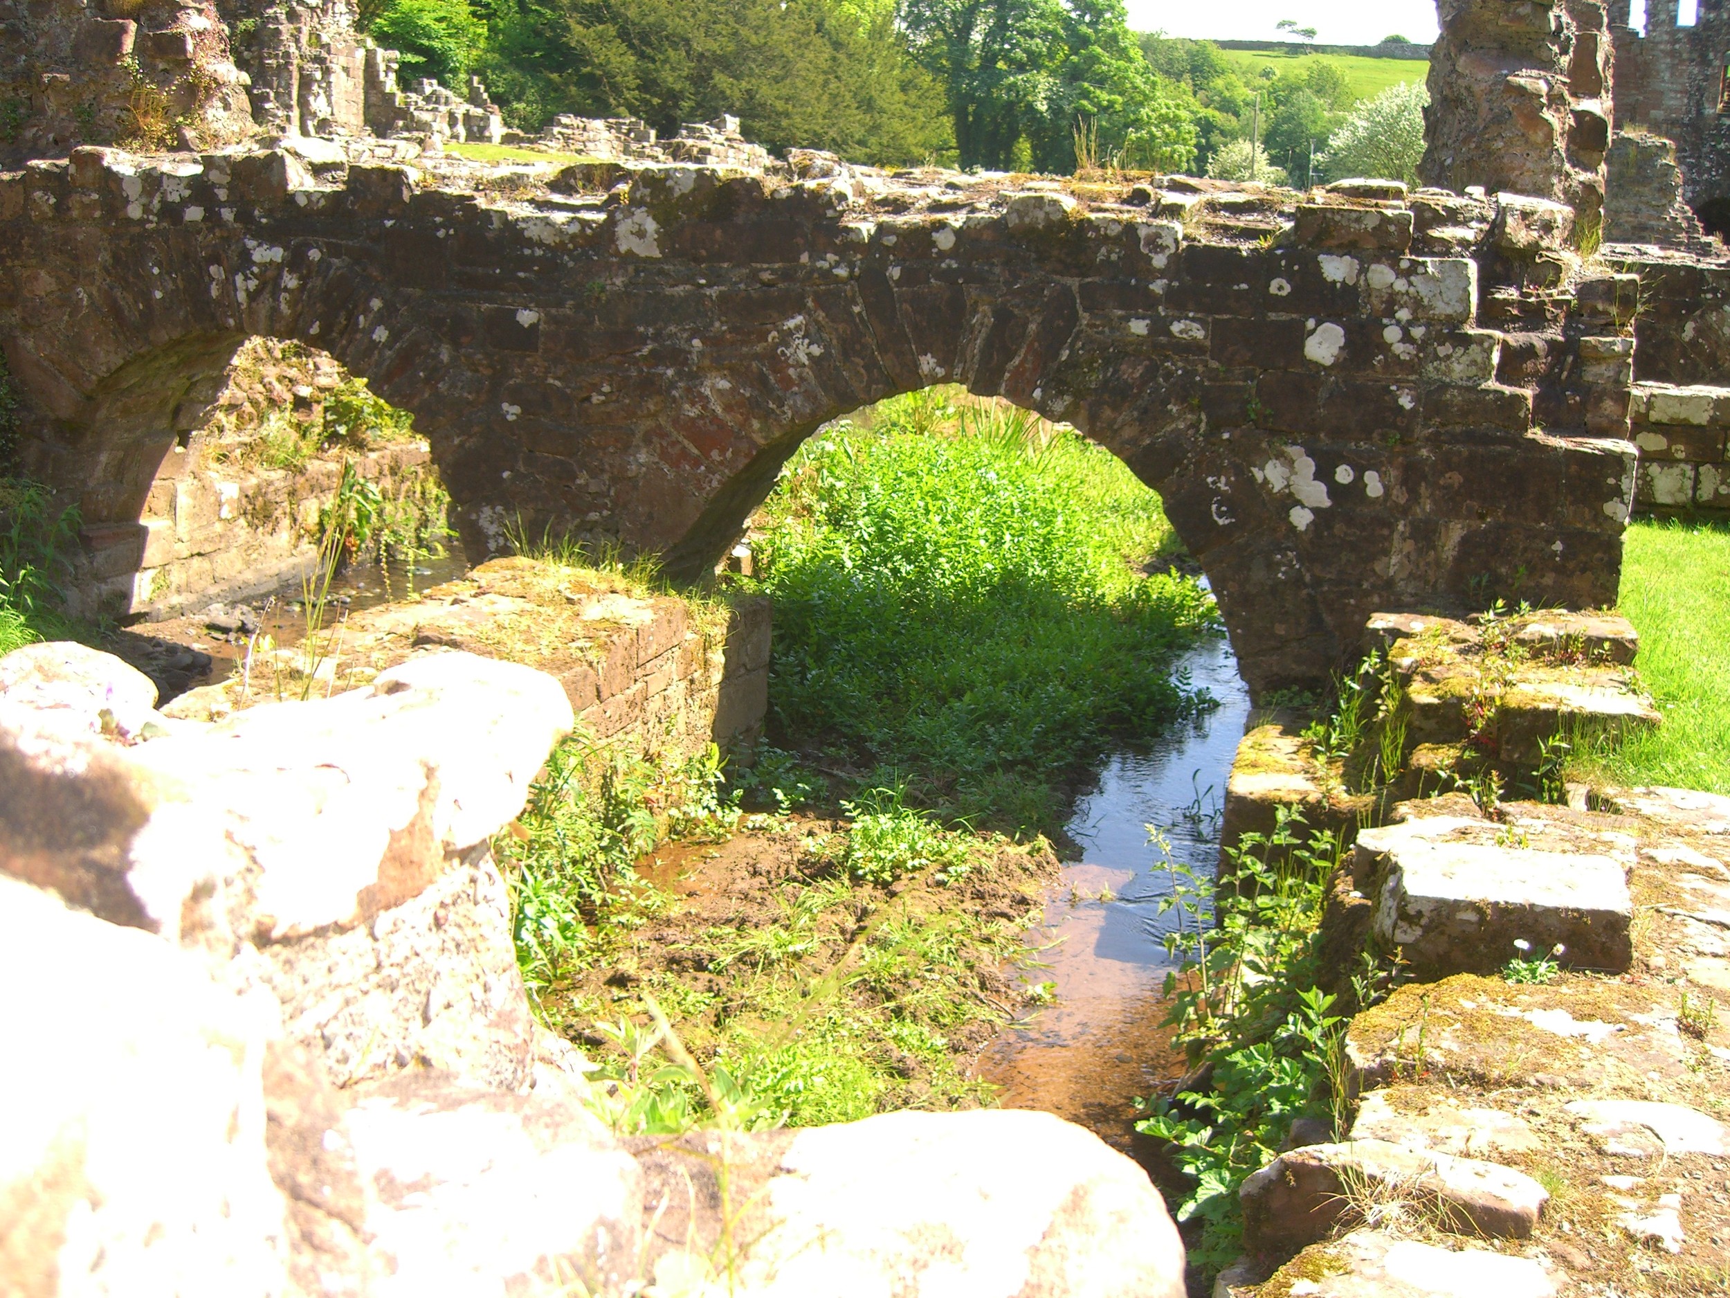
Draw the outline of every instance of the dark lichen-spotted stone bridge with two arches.
<instances>
[{"instance_id":1,"label":"dark lichen-spotted stone bridge with two arches","mask_svg":"<svg viewBox=\"0 0 1730 1298\"><path fill-rule=\"evenodd\" d=\"M1325 675L1374 607L1614 601L1638 284L1581 280L1569 220L799 154L507 185L85 147L0 175L0 339L26 467L76 493L111 575L144 559L187 393L247 336L412 410L471 554L552 528L683 578L825 421L962 382L1161 493L1266 692ZM1682 381L1720 355L1688 351L1687 273L1675 310L1642 308Z\"/></svg>"}]
</instances>

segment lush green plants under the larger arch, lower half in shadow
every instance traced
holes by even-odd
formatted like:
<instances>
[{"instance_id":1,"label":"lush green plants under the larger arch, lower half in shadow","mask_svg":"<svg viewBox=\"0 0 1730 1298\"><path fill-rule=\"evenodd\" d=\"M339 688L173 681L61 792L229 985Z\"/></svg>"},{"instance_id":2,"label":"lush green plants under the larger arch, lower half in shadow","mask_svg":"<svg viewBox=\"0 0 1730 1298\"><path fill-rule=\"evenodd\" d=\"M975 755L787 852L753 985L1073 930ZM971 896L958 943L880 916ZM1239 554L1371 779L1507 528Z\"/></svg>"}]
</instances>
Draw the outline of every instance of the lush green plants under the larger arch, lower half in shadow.
<instances>
[{"instance_id":1,"label":"lush green plants under the larger arch, lower half in shadow","mask_svg":"<svg viewBox=\"0 0 1730 1298\"><path fill-rule=\"evenodd\" d=\"M1111 452L938 391L841 422L761 514L772 723L943 819L1055 832L1112 742L1199 704L1171 659L1213 621L1159 500Z\"/></svg>"}]
</instances>

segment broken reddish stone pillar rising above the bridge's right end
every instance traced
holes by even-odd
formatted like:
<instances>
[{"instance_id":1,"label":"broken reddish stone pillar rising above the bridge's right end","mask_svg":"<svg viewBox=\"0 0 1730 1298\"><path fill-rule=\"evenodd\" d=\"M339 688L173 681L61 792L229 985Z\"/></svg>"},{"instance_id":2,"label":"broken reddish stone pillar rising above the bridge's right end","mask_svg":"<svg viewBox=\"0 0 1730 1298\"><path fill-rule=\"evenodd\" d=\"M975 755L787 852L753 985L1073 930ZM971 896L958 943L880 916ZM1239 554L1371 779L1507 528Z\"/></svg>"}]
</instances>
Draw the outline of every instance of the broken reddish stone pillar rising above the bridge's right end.
<instances>
[{"instance_id":1,"label":"broken reddish stone pillar rising above the bridge's right end","mask_svg":"<svg viewBox=\"0 0 1730 1298\"><path fill-rule=\"evenodd\" d=\"M1429 185L1564 202L1595 222L1611 138L1611 42L1597 0L1441 0Z\"/></svg>"}]
</instances>

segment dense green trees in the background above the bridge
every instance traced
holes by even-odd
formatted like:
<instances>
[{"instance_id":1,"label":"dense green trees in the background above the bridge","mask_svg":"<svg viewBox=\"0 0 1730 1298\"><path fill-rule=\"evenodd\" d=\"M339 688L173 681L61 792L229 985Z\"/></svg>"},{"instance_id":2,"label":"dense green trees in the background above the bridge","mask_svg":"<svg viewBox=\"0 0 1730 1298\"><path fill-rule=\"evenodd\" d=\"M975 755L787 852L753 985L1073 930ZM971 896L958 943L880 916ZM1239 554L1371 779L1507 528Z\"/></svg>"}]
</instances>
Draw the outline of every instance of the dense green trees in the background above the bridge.
<instances>
[{"instance_id":1,"label":"dense green trees in the background above the bridge","mask_svg":"<svg viewBox=\"0 0 1730 1298\"><path fill-rule=\"evenodd\" d=\"M1294 183L1374 144L1362 123L1349 154L1336 140L1356 107L1339 64L1258 69L1211 42L1137 35L1123 0L362 0L360 12L403 52L405 80L460 90L477 73L524 130L578 112L670 133L735 112L772 151L1052 173L1232 175L1249 170L1254 138L1256 177ZM1400 156L1408 116L1389 118Z\"/></svg>"}]
</instances>

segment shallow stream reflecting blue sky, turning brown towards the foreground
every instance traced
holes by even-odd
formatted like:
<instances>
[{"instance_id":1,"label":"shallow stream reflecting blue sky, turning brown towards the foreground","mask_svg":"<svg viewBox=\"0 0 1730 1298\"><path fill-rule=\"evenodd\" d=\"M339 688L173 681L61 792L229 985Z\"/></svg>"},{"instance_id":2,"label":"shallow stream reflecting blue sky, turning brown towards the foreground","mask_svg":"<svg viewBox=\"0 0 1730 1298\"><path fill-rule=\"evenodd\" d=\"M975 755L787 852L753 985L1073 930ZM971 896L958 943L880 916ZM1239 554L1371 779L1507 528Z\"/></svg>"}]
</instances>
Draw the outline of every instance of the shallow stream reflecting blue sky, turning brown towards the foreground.
<instances>
[{"instance_id":1,"label":"shallow stream reflecting blue sky, turning brown towards the foreground","mask_svg":"<svg viewBox=\"0 0 1730 1298\"><path fill-rule=\"evenodd\" d=\"M1003 1108L1047 1109L1119 1149L1133 1146L1135 1097L1182 1073L1161 1026L1171 967L1164 936L1176 916L1159 914L1171 879L1147 826L1164 831L1175 862L1213 876L1218 812L1249 715L1223 635L1182 666L1218 706L1147 749L1114 755L1099 789L1076 805L1067 831L1081 860L1064 865L1047 902L1033 935L1045 967L1028 974L1055 985L1055 1004L1003 1031L979 1059Z\"/></svg>"}]
</instances>

